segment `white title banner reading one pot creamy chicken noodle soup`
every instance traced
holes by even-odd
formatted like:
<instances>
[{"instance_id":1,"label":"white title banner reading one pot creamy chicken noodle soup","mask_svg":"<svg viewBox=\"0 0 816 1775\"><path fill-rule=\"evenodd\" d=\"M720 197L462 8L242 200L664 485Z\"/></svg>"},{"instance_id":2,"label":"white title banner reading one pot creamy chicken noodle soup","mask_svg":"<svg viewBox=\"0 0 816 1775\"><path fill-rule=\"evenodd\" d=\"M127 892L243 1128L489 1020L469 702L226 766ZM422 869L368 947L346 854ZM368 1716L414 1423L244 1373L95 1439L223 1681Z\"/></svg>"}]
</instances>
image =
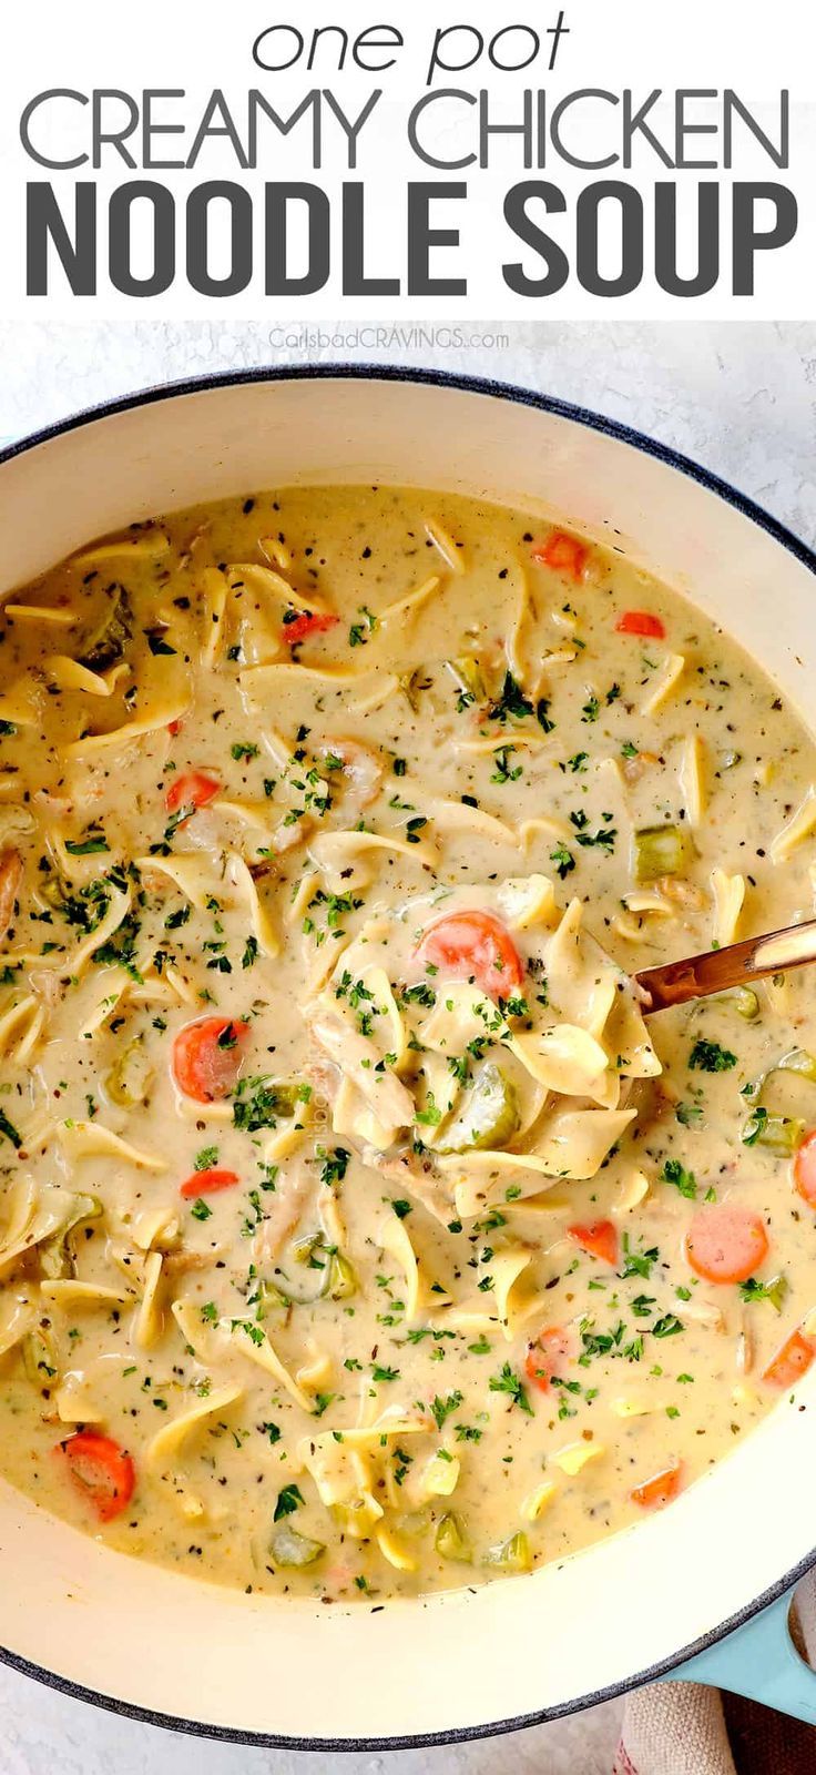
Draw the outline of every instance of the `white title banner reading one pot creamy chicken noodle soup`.
<instances>
[{"instance_id":1,"label":"white title banner reading one pot creamy chicken noodle soup","mask_svg":"<svg viewBox=\"0 0 816 1775\"><path fill-rule=\"evenodd\" d=\"M805 0L39 0L7 318L807 318Z\"/></svg>"}]
</instances>

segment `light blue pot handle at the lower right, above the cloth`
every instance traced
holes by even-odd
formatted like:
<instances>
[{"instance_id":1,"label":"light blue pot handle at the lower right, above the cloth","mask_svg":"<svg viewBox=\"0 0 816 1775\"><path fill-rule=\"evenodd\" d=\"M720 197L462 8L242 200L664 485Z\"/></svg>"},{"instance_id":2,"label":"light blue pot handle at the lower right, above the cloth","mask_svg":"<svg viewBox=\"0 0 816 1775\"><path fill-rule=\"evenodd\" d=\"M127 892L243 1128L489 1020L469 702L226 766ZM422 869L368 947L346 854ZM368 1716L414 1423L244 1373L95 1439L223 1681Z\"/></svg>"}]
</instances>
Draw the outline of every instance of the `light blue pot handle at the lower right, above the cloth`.
<instances>
[{"instance_id":1,"label":"light blue pot handle at the lower right, above the cloth","mask_svg":"<svg viewBox=\"0 0 816 1775\"><path fill-rule=\"evenodd\" d=\"M665 1681L710 1683L816 1725L816 1672L791 1640L791 1598L793 1590L786 1590L743 1628L669 1670Z\"/></svg>"}]
</instances>

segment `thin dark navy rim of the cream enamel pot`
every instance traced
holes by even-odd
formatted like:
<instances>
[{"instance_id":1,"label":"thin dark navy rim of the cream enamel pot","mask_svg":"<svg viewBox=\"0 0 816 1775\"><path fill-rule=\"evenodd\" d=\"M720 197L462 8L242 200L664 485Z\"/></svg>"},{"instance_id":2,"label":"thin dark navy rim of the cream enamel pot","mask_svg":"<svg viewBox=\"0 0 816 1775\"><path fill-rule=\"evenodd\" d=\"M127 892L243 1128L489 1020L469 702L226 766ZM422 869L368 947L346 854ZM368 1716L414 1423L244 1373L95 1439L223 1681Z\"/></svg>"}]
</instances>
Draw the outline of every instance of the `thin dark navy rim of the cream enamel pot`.
<instances>
[{"instance_id":1,"label":"thin dark navy rim of the cream enamel pot","mask_svg":"<svg viewBox=\"0 0 816 1775\"><path fill-rule=\"evenodd\" d=\"M394 383L419 383L424 387L442 387L452 389L463 394L479 394L490 399L511 401L516 406L530 406L537 412L555 414L559 419L569 419L573 424L585 426L591 431L598 431L603 437L610 437L619 444L628 444L639 449L642 454L665 463L669 469L688 476L710 493L717 493L726 504L733 506L741 517L749 518L759 529L766 531L788 554L793 554L811 573L816 575L816 548L802 541L786 524L772 517L757 501L741 493L731 481L704 469L701 463L694 462L692 456L685 456L669 444L662 444L658 438L649 437L646 431L639 431L635 426L626 424L619 419L608 419L603 414L596 414L592 408L578 406L573 401L564 401L559 396L541 394L536 389L525 389L518 383L498 382L490 376L474 376L467 371L445 371L445 369L424 369L422 366L410 364L376 364L376 362L326 362L326 364L277 364L277 366L257 366L252 369L225 369L215 371L202 376L184 376L177 382L153 383L147 389L135 390L133 394L124 394L110 401L99 401L94 406L80 408L80 412L71 414L67 419L55 421L53 424L41 426L37 431L28 433L23 438L7 444L0 449L0 469L7 462L14 462L18 456L25 456L28 451L37 449L41 444L48 444L53 438L66 437L71 431L83 430L85 426L96 424L99 419L110 419L117 414L128 414L140 406L154 406L160 401L172 401L188 394L206 394L211 389L229 389L243 387L252 383L275 383L275 382L394 382ZM238 1743L248 1747L264 1747L279 1750L326 1750L326 1752L369 1752L369 1750L417 1750L435 1745L459 1745L472 1743L483 1738L498 1738L502 1734L518 1732L530 1729L534 1725L543 1725L548 1720L559 1720L571 1713L584 1713L587 1708L596 1708L603 1700L614 1700L619 1695L628 1693L633 1688L640 1688L644 1683L655 1683L658 1677L667 1676L676 1670L688 1658L697 1653L704 1653L717 1645L720 1640L727 1638L738 1628L743 1628L752 1621L763 1608L779 1601L786 1590L793 1589L812 1567L816 1566L816 1546L809 1555L805 1555L791 1571L784 1573L773 1585L763 1590L757 1598L747 1603L743 1608L736 1610L720 1626L711 1628L710 1633L701 1635L688 1645L672 1653L669 1658L660 1660L655 1665L647 1665L642 1670L623 1677L617 1683L610 1683L605 1688L592 1690L587 1695L559 1702L553 1708L539 1708L532 1713L514 1715L507 1720L490 1720L477 1725L452 1727L451 1731L438 1732L403 1732L399 1736L388 1738L300 1738L282 1732L254 1732L232 1725L216 1725L204 1720L186 1720L179 1715L160 1713L153 1708L142 1708L135 1702L121 1700L115 1695L105 1695L99 1690L85 1688L80 1683L71 1681L71 1677L59 1676L55 1670L46 1670L43 1665L32 1663L28 1658L21 1658L9 1647L0 1645L0 1663L16 1670L20 1676L34 1677L34 1681L57 1690L62 1695L69 1695L73 1700L85 1700L90 1706L101 1708L106 1713L114 1713L121 1718L138 1720L147 1725L158 1725L172 1732L186 1732L193 1738L209 1738L222 1743Z\"/></svg>"}]
</instances>

